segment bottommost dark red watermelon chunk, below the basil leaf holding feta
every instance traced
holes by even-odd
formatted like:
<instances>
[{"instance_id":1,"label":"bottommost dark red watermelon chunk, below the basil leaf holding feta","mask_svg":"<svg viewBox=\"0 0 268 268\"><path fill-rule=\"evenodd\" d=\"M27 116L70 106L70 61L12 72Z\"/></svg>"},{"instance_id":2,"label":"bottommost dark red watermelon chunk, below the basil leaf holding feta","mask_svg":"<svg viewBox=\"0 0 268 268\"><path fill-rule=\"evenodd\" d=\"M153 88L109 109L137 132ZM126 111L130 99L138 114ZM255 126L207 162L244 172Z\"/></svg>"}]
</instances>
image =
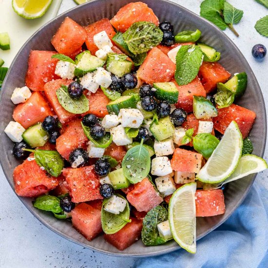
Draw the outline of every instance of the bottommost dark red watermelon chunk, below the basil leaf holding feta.
<instances>
[{"instance_id":1,"label":"bottommost dark red watermelon chunk, below the basil leaf holding feta","mask_svg":"<svg viewBox=\"0 0 268 268\"><path fill-rule=\"evenodd\" d=\"M104 239L115 246L116 249L124 250L136 242L141 235L142 220L131 218L121 230L114 234L104 234Z\"/></svg>"}]
</instances>

